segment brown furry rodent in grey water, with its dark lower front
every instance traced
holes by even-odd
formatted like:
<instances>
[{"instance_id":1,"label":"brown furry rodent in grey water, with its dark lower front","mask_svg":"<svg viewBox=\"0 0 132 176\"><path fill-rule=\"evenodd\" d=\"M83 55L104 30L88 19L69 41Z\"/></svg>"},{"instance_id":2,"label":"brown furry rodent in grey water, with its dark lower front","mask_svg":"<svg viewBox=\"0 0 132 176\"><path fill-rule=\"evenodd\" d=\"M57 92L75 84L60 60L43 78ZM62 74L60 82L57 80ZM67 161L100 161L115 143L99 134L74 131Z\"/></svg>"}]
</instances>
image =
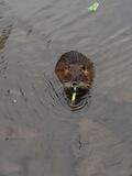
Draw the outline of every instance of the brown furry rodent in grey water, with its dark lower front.
<instances>
[{"instance_id":1,"label":"brown furry rodent in grey water, with its dark lower front","mask_svg":"<svg viewBox=\"0 0 132 176\"><path fill-rule=\"evenodd\" d=\"M55 66L55 73L63 84L68 99L72 100L73 94L76 94L74 105L77 105L92 85L94 63L84 54L70 51L61 56Z\"/></svg>"}]
</instances>

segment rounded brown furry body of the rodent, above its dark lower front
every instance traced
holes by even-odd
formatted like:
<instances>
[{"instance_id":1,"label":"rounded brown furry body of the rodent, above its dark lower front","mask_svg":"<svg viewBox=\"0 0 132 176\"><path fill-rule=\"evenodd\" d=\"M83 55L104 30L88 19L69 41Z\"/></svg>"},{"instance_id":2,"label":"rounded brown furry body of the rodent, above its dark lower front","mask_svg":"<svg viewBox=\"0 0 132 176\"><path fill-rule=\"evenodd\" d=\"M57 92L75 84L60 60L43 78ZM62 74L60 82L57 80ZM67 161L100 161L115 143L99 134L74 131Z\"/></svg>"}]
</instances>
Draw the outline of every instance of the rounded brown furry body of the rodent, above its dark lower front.
<instances>
[{"instance_id":1,"label":"rounded brown furry body of the rodent, above its dark lower front","mask_svg":"<svg viewBox=\"0 0 132 176\"><path fill-rule=\"evenodd\" d=\"M55 66L55 73L64 88L70 88L75 81L78 87L86 86L89 89L95 76L92 62L76 51L67 52L61 56Z\"/></svg>"}]
</instances>

